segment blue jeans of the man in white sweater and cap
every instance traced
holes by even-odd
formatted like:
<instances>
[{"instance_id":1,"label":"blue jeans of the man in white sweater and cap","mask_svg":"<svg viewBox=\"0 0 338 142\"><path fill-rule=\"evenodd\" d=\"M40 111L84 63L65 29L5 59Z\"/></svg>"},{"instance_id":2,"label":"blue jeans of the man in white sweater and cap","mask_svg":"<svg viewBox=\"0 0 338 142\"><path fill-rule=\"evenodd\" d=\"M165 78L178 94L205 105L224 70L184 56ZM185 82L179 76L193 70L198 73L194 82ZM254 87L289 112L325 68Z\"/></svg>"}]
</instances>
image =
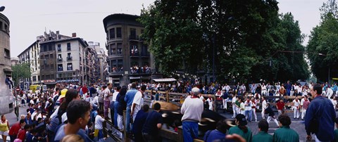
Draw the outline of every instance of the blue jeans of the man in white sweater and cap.
<instances>
[{"instance_id":1,"label":"blue jeans of the man in white sweater and cap","mask_svg":"<svg viewBox=\"0 0 338 142\"><path fill-rule=\"evenodd\" d=\"M197 122L182 122L184 142L194 141L199 137L199 124Z\"/></svg>"}]
</instances>

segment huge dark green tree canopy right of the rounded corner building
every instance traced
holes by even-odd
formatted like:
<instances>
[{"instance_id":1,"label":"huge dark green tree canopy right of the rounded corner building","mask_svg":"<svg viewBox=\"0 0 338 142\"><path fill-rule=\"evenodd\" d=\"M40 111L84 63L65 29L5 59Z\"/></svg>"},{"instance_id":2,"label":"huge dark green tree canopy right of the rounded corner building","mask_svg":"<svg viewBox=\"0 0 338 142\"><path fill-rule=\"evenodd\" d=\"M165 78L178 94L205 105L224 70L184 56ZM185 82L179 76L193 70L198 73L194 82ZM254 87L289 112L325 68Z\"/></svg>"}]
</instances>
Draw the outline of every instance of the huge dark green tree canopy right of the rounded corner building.
<instances>
[{"instance_id":1,"label":"huge dark green tree canopy right of the rounded corner building","mask_svg":"<svg viewBox=\"0 0 338 142\"><path fill-rule=\"evenodd\" d=\"M274 54L304 51L298 22L291 13L278 15L275 0L157 0L140 21L161 72L211 73L215 63L225 82L308 77L302 53Z\"/></svg>"}]
</instances>

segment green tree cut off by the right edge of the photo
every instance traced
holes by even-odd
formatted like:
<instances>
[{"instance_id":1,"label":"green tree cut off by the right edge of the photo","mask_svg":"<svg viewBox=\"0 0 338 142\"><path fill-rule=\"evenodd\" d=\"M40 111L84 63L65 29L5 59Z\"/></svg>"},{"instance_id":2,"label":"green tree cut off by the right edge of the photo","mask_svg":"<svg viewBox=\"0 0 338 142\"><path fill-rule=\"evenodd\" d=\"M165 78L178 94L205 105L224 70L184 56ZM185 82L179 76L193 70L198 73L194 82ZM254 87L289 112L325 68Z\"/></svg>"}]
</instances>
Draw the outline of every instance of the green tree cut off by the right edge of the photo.
<instances>
[{"instance_id":1,"label":"green tree cut off by the right edge of the photo","mask_svg":"<svg viewBox=\"0 0 338 142\"><path fill-rule=\"evenodd\" d=\"M337 77L338 73L334 68L338 65L337 3L332 0L327 1L320 11L321 22L311 31L307 51L313 74L319 81L325 82L329 69L331 77Z\"/></svg>"}]
</instances>

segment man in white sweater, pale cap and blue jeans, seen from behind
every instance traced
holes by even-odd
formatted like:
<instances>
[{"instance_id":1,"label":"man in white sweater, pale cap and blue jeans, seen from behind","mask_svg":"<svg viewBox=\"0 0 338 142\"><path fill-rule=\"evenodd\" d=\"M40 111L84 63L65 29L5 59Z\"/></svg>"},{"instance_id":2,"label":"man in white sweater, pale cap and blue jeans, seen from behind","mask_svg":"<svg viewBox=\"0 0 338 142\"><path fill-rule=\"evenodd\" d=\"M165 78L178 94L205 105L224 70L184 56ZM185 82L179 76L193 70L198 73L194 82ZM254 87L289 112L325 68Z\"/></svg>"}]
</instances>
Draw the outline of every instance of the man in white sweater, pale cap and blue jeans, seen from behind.
<instances>
[{"instance_id":1,"label":"man in white sweater, pale cap and blue jeans, seen from behind","mask_svg":"<svg viewBox=\"0 0 338 142\"><path fill-rule=\"evenodd\" d=\"M184 141L193 141L198 138L199 122L203 112L203 101L199 99L199 88L192 89L192 98L186 98L181 107L182 129Z\"/></svg>"}]
</instances>

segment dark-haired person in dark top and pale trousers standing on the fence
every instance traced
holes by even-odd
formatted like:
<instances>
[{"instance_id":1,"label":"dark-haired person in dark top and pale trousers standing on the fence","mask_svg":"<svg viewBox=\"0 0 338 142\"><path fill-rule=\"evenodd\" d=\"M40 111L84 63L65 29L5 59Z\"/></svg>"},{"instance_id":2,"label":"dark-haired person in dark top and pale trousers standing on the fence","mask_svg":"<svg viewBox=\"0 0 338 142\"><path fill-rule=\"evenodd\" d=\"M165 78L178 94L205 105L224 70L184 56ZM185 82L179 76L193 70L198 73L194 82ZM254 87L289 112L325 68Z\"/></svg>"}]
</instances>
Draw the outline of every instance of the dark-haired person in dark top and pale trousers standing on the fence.
<instances>
[{"instance_id":1,"label":"dark-haired person in dark top and pale trousers standing on the fence","mask_svg":"<svg viewBox=\"0 0 338 142\"><path fill-rule=\"evenodd\" d=\"M116 96L116 102L118 102L118 129L120 130L123 130L123 110L127 108L125 93L127 93L127 86L122 86L120 93Z\"/></svg>"}]
</instances>

